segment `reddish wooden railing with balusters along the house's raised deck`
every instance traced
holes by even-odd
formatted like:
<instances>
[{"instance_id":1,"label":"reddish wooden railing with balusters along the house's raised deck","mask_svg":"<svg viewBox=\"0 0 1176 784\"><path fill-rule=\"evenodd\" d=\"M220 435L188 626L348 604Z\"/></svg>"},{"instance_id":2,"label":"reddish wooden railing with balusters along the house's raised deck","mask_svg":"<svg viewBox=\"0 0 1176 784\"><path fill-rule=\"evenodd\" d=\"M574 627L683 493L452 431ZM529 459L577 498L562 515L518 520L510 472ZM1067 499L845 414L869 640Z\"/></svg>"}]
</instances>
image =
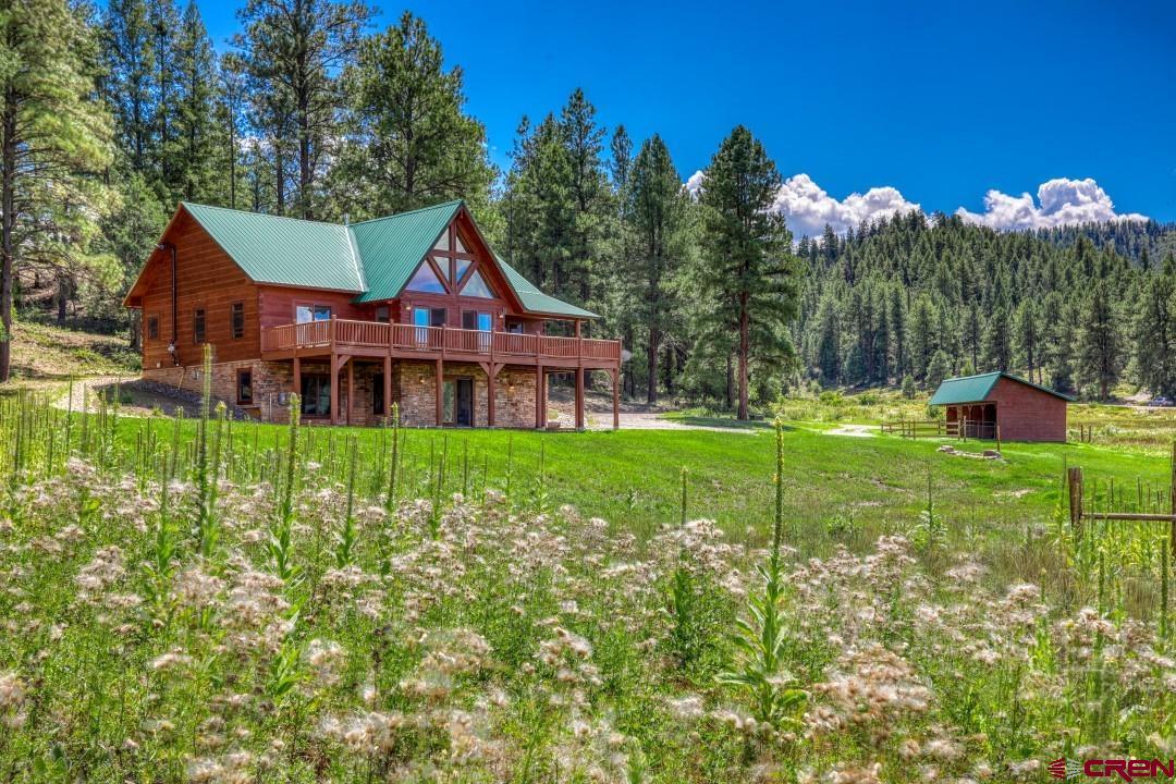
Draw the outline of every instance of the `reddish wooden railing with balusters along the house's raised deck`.
<instances>
[{"instance_id":1,"label":"reddish wooden railing with balusters along the house's raised deck","mask_svg":"<svg viewBox=\"0 0 1176 784\"><path fill-rule=\"evenodd\" d=\"M394 348L422 353L542 357L620 362L621 342L595 337L555 337L524 333L492 333L452 327L415 327L379 321L332 319L261 329L262 351L300 348Z\"/></svg>"}]
</instances>

